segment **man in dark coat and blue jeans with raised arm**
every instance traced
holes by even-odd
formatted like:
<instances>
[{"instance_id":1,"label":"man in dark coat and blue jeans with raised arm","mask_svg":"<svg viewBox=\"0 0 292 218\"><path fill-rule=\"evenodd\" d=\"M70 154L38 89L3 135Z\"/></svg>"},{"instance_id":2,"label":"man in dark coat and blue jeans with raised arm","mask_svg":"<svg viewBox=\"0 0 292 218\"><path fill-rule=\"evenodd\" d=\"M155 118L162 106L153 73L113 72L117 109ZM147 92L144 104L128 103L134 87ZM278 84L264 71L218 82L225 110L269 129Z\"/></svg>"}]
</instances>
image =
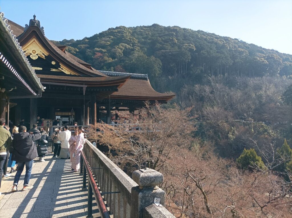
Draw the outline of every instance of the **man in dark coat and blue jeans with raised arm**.
<instances>
[{"instance_id":1,"label":"man in dark coat and blue jeans with raised arm","mask_svg":"<svg viewBox=\"0 0 292 218\"><path fill-rule=\"evenodd\" d=\"M25 126L20 126L18 131L19 133L13 135L13 152L11 159L18 162L18 169L14 177L11 191L17 191L18 181L24 166L26 171L22 191L33 188L33 186L29 186L28 184L30 174L32 173L33 159L38 157L34 141L41 138L41 133L38 130L30 134L26 132Z\"/></svg>"}]
</instances>

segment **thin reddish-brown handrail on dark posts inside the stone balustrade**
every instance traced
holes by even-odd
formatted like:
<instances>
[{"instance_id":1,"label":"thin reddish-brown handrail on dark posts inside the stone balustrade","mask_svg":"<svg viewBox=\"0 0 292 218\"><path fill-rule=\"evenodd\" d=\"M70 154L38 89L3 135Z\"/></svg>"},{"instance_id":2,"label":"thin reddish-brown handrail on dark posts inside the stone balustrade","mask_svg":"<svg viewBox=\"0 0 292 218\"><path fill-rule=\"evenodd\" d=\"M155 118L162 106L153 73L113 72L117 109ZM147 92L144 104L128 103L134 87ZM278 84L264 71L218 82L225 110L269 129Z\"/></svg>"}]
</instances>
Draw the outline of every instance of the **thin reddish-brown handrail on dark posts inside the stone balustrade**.
<instances>
[{"instance_id":1,"label":"thin reddish-brown handrail on dark posts inside the stone balustrade","mask_svg":"<svg viewBox=\"0 0 292 218\"><path fill-rule=\"evenodd\" d=\"M100 191L97 187L97 184L95 182L95 179L93 177L93 174L91 172L91 169L88 165L88 162L86 160L86 157L85 157L85 154L83 151L81 152L81 157L82 157L82 165L83 165L83 175L86 176L86 173L84 172L85 170L86 170L87 175L88 175L88 216L87 217L92 217L92 191L93 191L95 201L98 205L100 217L110 218L107 207L105 206L105 202L103 201L103 198L102 198Z\"/></svg>"}]
</instances>

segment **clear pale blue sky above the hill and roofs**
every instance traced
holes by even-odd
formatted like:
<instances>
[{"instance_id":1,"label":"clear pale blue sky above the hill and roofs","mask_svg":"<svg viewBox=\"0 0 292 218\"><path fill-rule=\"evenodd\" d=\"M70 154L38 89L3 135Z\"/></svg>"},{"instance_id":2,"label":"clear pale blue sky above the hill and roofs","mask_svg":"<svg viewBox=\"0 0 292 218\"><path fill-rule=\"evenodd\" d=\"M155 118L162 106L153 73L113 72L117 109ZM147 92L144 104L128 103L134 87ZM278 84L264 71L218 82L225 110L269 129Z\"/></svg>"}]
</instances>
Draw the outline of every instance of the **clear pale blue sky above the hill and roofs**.
<instances>
[{"instance_id":1,"label":"clear pale blue sky above the hill and roofs","mask_svg":"<svg viewBox=\"0 0 292 218\"><path fill-rule=\"evenodd\" d=\"M292 54L292 0L75 1L0 0L5 17L24 26L36 14L51 40L82 39L111 27L157 23L238 38Z\"/></svg>"}]
</instances>

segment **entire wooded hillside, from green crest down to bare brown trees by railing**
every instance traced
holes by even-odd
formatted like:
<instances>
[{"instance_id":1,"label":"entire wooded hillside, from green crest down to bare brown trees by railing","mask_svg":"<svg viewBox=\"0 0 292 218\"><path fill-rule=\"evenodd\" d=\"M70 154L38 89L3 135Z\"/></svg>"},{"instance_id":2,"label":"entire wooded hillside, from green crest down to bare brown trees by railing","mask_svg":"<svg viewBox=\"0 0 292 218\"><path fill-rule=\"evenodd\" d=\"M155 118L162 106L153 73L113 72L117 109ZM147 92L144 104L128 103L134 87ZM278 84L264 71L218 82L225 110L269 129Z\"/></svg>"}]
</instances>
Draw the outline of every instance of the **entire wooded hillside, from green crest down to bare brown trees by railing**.
<instances>
[{"instance_id":1,"label":"entire wooded hillside, from green crest down to bare brown trees by railing","mask_svg":"<svg viewBox=\"0 0 292 218\"><path fill-rule=\"evenodd\" d=\"M141 131L98 124L88 135L128 174L163 173L176 217L291 217L292 55L158 24L57 43L98 70L146 73L177 94L129 115Z\"/></svg>"}]
</instances>

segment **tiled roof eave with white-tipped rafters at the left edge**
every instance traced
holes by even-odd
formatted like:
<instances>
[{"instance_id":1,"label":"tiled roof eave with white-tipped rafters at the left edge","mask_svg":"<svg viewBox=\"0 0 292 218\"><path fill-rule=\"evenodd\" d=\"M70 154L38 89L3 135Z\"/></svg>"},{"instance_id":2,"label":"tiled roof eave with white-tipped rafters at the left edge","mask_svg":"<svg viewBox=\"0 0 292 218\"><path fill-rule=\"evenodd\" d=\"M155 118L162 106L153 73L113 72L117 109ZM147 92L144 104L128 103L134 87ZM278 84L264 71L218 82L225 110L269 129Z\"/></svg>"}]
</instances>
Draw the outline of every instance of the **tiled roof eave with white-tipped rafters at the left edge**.
<instances>
[{"instance_id":1,"label":"tiled roof eave with white-tipped rafters at the left edge","mask_svg":"<svg viewBox=\"0 0 292 218\"><path fill-rule=\"evenodd\" d=\"M41 96L44 87L18 43L18 24L4 18L0 12L0 87L10 98ZM23 27L22 27L23 29Z\"/></svg>"}]
</instances>

